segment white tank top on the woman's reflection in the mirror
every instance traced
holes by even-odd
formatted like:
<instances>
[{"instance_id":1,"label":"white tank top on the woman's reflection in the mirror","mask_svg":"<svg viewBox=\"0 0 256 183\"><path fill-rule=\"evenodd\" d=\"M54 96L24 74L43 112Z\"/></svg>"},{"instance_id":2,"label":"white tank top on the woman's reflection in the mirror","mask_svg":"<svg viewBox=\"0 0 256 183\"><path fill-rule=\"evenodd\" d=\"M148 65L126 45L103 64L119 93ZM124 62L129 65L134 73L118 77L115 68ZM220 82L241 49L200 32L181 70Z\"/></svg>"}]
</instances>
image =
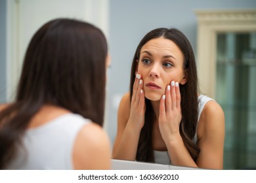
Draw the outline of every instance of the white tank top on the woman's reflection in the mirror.
<instances>
[{"instance_id":1,"label":"white tank top on the woman's reflection in the mirror","mask_svg":"<svg viewBox=\"0 0 256 183\"><path fill-rule=\"evenodd\" d=\"M200 115L202 113L203 107L208 101L214 101L214 99L211 99L210 97L207 97L205 95L198 96L198 121L200 119ZM197 131L196 131L196 135L194 136L194 142L195 143L198 142ZM156 163L165 164L165 165L171 164L171 159L169 158L167 151L153 150L153 153L154 153L154 158Z\"/></svg>"}]
</instances>

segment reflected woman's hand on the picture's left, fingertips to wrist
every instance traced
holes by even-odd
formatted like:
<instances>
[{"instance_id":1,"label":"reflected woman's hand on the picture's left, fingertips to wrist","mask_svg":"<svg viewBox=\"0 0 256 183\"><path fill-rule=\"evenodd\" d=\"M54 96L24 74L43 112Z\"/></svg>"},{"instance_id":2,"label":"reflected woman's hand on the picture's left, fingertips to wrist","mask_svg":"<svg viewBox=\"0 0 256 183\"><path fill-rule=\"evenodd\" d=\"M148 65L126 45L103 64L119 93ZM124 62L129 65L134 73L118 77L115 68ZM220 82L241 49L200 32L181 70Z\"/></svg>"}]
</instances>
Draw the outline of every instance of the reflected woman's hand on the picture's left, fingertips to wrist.
<instances>
[{"instance_id":1,"label":"reflected woman's hand on the picture's left, fingertips to wrist","mask_svg":"<svg viewBox=\"0 0 256 183\"><path fill-rule=\"evenodd\" d=\"M143 91L142 76L137 74L133 84L133 96L131 97L131 109L128 124L133 129L142 129L144 125L144 114L146 110Z\"/></svg>"}]
</instances>

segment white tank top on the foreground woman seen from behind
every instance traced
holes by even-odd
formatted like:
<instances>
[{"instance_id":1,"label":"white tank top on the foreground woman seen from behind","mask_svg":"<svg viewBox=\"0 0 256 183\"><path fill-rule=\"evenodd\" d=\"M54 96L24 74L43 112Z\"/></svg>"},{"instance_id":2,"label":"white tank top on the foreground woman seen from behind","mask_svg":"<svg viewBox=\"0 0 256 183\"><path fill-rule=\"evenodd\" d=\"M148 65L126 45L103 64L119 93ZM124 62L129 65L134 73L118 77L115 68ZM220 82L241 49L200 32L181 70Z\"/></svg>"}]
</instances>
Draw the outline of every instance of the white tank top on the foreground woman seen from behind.
<instances>
[{"instance_id":1,"label":"white tank top on the foreground woman seen from behind","mask_svg":"<svg viewBox=\"0 0 256 183\"><path fill-rule=\"evenodd\" d=\"M91 121L79 114L64 114L47 124L28 129L16 157L7 169L74 169L72 152L81 127Z\"/></svg>"}]
</instances>

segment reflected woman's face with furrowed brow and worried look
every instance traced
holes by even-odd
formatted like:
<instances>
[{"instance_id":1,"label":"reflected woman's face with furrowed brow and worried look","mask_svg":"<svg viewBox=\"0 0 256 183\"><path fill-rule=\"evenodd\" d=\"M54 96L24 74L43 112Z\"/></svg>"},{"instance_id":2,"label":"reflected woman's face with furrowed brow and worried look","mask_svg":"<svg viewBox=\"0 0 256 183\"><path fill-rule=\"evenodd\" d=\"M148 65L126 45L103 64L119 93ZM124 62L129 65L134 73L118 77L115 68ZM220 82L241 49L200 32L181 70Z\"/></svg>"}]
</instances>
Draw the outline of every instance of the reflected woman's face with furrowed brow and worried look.
<instances>
[{"instance_id":1,"label":"reflected woman's face with furrowed brow and worried look","mask_svg":"<svg viewBox=\"0 0 256 183\"><path fill-rule=\"evenodd\" d=\"M186 83L184 56L175 42L159 37L142 46L137 72L144 80L147 99L159 101L172 80Z\"/></svg>"}]
</instances>

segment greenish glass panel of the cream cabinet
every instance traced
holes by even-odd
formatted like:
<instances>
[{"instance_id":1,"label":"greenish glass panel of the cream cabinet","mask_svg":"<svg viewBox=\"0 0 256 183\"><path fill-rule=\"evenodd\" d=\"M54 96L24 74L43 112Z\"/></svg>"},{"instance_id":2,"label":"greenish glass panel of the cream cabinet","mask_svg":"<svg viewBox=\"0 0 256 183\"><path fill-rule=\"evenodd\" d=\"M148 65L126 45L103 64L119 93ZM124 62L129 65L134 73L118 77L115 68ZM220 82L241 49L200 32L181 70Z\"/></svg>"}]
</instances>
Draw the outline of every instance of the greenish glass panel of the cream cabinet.
<instances>
[{"instance_id":1,"label":"greenish glass panel of the cream cabinet","mask_svg":"<svg viewBox=\"0 0 256 183\"><path fill-rule=\"evenodd\" d=\"M215 99L225 114L224 169L256 169L256 32L217 34Z\"/></svg>"}]
</instances>

